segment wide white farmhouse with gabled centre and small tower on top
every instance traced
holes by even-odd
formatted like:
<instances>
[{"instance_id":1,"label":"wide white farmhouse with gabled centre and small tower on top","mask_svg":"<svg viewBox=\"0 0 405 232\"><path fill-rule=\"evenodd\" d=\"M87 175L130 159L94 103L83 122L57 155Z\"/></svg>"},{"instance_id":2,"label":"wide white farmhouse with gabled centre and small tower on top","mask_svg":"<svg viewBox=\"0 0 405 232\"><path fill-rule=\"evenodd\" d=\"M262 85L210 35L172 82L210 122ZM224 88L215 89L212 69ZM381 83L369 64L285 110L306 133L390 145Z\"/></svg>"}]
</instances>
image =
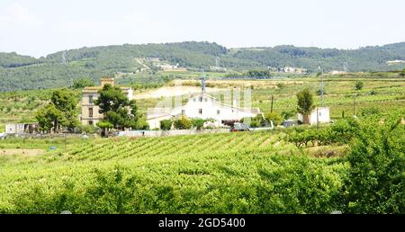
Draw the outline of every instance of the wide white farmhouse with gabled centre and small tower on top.
<instances>
[{"instance_id":1,"label":"wide white farmhouse with gabled centre and small tower on top","mask_svg":"<svg viewBox=\"0 0 405 232\"><path fill-rule=\"evenodd\" d=\"M187 99L187 103L176 108L155 108L148 111L147 121L150 129L160 127L161 120L173 119L181 115L188 118L212 119L219 122L238 121L245 117L256 117L261 114L258 108L240 108L236 101L232 105L219 103L214 97L205 94L204 82L202 93L193 94Z\"/></svg>"}]
</instances>

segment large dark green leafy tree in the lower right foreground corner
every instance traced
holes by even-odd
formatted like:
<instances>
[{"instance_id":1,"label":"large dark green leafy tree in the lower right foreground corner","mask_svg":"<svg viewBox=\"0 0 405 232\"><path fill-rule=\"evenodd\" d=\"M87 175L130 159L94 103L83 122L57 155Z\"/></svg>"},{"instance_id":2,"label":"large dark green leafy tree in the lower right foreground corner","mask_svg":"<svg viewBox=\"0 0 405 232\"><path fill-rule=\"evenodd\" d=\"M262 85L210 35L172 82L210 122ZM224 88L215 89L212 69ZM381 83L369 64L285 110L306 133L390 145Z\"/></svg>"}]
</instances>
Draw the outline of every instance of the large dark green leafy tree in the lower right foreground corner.
<instances>
[{"instance_id":1,"label":"large dark green leafy tree in the lower right foreground corner","mask_svg":"<svg viewBox=\"0 0 405 232\"><path fill-rule=\"evenodd\" d=\"M347 156L347 213L405 211L405 127L392 115L365 120Z\"/></svg>"}]
</instances>

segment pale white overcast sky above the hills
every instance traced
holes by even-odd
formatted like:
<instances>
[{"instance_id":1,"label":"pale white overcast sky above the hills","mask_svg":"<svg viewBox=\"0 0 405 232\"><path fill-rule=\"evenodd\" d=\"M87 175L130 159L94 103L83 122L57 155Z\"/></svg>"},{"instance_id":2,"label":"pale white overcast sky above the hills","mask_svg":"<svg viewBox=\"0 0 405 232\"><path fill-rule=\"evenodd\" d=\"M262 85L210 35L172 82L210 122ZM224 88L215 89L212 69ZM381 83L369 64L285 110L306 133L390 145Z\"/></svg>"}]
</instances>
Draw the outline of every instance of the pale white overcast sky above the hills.
<instances>
[{"instance_id":1,"label":"pale white overcast sky above the hills","mask_svg":"<svg viewBox=\"0 0 405 232\"><path fill-rule=\"evenodd\" d=\"M356 49L405 41L403 0L0 1L0 51L184 40Z\"/></svg>"}]
</instances>

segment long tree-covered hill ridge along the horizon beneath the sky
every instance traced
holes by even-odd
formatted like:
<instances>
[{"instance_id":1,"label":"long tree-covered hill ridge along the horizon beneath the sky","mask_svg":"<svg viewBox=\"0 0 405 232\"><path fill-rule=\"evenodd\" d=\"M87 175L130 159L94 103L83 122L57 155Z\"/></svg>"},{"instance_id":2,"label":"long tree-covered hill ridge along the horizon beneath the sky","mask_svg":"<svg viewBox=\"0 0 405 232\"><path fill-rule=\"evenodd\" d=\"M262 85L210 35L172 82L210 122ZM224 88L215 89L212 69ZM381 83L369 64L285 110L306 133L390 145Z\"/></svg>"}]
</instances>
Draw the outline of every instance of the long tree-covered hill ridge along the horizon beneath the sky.
<instances>
[{"instance_id":1,"label":"long tree-covered hill ridge along the horizon beneath the sky","mask_svg":"<svg viewBox=\"0 0 405 232\"><path fill-rule=\"evenodd\" d=\"M217 57L220 67L230 69L289 66L314 72L320 66L324 71L383 71L405 66L404 63L387 64L387 61L405 60L405 42L361 49L294 46L227 49L216 43L188 41L70 49L45 58L0 53L0 91L67 86L84 76L98 80L100 76L112 76L116 72L154 67L145 58L159 58L168 64L201 69L215 66Z\"/></svg>"}]
</instances>

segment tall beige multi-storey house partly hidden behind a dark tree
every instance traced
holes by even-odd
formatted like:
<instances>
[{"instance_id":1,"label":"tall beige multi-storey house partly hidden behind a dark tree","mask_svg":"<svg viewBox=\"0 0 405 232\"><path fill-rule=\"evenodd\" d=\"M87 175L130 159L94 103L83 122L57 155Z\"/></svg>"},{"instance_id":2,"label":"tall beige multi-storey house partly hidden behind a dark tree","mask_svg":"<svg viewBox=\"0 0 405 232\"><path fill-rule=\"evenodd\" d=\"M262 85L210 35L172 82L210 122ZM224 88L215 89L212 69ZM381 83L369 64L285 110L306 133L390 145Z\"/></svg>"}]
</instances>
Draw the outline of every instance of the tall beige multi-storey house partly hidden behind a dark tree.
<instances>
[{"instance_id":1,"label":"tall beige multi-storey house partly hidden behind a dark tree","mask_svg":"<svg viewBox=\"0 0 405 232\"><path fill-rule=\"evenodd\" d=\"M95 125L100 120L103 120L103 114L100 114L98 105L94 104L100 94L98 93L106 84L114 85L114 78L102 78L101 86L85 87L82 92L82 113L80 121L83 125ZM131 87L121 87L121 91L128 96L130 100L133 99L133 92Z\"/></svg>"}]
</instances>

